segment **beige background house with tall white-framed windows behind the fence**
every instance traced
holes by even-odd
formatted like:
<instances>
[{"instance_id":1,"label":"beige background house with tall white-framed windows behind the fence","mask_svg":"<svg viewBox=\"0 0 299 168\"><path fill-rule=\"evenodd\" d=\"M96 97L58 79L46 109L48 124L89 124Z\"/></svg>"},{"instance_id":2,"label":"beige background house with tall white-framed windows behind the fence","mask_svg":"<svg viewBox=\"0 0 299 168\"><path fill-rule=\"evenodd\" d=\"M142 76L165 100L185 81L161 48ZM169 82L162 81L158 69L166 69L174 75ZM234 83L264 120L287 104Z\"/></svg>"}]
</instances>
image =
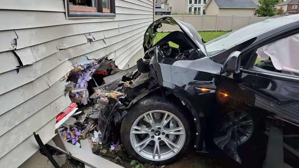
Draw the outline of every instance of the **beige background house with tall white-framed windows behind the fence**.
<instances>
[{"instance_id":1,"label":"beige background house with tall white-framed windows behind the fence","mask_svg":"<svg viewBox=\"0 0 299 168\"><path fill-rule=\"evenodd\" d=\"M192 14L204 14L203 7L206 4L206 0L165 0L164 7L171 12L176 13L192 13Z\"/></svg>"}]
</instances>

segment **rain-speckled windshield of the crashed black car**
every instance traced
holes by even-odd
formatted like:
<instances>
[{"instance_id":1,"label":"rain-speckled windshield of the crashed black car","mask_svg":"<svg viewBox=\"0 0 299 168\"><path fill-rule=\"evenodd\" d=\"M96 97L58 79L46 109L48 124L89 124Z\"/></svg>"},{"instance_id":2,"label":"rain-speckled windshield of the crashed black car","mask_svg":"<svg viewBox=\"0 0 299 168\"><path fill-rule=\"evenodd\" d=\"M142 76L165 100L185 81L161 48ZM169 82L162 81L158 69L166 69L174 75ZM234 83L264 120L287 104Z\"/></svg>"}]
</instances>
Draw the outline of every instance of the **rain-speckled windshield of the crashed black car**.
<instances>
[{"instance_id":1,"label":"rain-speckled windshield of the crashed black car","mask_svg":"<svg viewBox=\"0 0 299 168\"><path fill-rule=\"evenodd\" d=\"M222 35L214 40L205 43L206 53L208 57L213 56L224 50L230 49L235 45L243 43L246 40L261 35L267 31L295 21L299 21L298 16L285 16L257 22L241 29L234 30L228 34Z\"/></svg>"}]
</instances>

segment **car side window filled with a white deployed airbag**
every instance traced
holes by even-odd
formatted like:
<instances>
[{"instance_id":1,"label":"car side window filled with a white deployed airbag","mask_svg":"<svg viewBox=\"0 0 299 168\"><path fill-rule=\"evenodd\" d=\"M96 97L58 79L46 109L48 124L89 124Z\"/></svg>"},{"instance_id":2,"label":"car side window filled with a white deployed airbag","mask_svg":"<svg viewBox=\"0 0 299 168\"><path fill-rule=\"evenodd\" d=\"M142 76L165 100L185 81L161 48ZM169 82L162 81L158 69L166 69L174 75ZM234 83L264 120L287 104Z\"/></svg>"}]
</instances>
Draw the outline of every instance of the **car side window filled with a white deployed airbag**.
<instances>
[{"instance_id":1,"label":"car side window filled with a white deployed airbag","mask_svg":"<svg viewBox=\"0 0 299 168\"><path fill-rule=\"evenodd\" d=\"M264 45L256 54L255 67L299 76L299 34Z\"/></svg>"}]
</instances>

